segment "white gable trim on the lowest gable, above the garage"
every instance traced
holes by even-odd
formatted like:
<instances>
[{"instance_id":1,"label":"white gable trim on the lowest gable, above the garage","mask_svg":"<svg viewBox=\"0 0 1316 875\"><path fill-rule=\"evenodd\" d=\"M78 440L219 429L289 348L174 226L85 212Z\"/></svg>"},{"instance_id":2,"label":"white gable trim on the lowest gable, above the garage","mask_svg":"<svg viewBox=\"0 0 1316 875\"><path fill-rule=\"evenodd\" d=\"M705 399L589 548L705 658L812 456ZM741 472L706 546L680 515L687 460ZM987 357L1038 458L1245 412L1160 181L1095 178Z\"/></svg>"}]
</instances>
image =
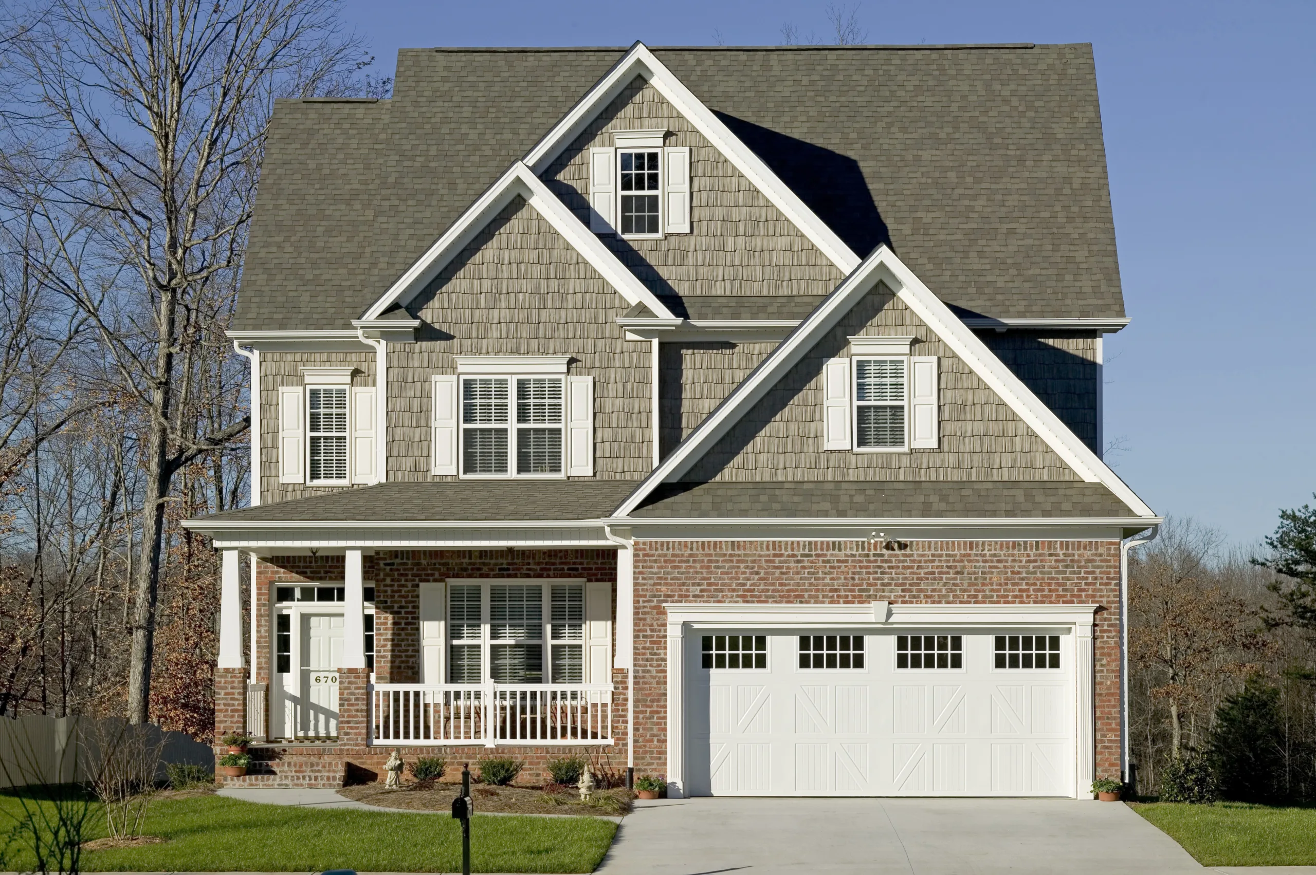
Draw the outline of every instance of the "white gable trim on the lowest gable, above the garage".
<instances>
[{"instance_id":1,"label":"white gable trim on the lowest gable, above the garage","mask_svg":"<svg viewBox=\"0 0 1316 875\"><path fill-rule=\"evenodd\" d=\"M690 471L804 357L858 300L876 283L884 283L934 332L1046 445L1087 483L1101 483L1137 516L1154 516L1152 508L1078 439L1061 418L992 355L973 333L890 249L879 246L836 291L800 322L726 399L691 432L621 505L615 517L630 514L661 483Z\"/></svg>"}]
</instances>

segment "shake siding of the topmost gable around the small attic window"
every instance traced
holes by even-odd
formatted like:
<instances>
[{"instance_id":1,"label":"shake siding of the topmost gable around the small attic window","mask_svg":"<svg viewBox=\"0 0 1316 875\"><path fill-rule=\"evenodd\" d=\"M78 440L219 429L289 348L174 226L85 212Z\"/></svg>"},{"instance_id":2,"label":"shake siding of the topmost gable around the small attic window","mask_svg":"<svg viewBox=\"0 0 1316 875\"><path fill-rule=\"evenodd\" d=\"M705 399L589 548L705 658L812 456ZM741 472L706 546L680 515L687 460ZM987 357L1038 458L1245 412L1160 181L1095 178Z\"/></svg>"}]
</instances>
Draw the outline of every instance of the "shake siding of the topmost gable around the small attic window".
<instances>
[{"instance_id":1,"label":"shake siding of the topmost gable around the small attic window","mask_svg":"<svg viewBox=\"0 0 1316 875\"><path fill-rule=\"evenodd\" d=\"M653 86L636 78L542 174L582 222L590 222L590 149L613 130L666 128L665 146L691 147L691 234L600 239L655 295L826 295L832 264Z\"/></svg>"}]
</instances>

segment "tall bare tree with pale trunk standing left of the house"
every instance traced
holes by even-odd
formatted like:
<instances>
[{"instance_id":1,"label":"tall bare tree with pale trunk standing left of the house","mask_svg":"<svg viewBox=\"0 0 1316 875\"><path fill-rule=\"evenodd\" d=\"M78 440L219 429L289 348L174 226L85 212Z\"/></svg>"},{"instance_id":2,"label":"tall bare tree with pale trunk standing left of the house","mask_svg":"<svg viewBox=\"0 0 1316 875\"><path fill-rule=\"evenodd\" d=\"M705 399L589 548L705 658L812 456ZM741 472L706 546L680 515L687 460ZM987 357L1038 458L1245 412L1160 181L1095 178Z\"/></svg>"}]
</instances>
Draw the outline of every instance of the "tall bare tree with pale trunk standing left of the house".
<instances>
[{"instance_id":1,"label":"tall bare tree with pale trunk standing left of the house","mask_svg":"<svg viewBox=\"0 0 1316 875\"><path fill-rule=\"evenodd\" d=\"M41 280L89 320L93 382L141 420L128 717L145 722L174 478L249 426L199 396L200 375L225 366L274 99L337 89L368 61L332 0L53 0L18 45L16 129L45 138L8 178L51 255Z\"/></svg>"}]
</instances>

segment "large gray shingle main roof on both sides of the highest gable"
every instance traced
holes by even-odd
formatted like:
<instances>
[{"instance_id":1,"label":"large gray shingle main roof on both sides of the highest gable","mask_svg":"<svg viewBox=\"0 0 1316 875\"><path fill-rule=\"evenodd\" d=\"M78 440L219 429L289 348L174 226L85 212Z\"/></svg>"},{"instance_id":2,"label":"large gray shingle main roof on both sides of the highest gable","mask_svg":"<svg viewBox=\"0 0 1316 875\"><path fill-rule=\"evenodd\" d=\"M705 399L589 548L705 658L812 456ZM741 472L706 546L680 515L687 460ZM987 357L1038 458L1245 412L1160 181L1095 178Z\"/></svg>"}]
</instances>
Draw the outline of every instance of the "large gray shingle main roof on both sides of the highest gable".
<instances>
[{"instance_id":1,"label":"large gray shingle main roof on both sides of the highest gable","mask_svg":"<svg viewBox=\"0 0 1316 875\"><path fill-rule=\"evenodd\" d=\"M343 328L622 49L415 49L387 101L279 101L233 328ZM946 303L1123 316L1091 46L655 49L859 255Z\"/></svg>"}]
</instances>

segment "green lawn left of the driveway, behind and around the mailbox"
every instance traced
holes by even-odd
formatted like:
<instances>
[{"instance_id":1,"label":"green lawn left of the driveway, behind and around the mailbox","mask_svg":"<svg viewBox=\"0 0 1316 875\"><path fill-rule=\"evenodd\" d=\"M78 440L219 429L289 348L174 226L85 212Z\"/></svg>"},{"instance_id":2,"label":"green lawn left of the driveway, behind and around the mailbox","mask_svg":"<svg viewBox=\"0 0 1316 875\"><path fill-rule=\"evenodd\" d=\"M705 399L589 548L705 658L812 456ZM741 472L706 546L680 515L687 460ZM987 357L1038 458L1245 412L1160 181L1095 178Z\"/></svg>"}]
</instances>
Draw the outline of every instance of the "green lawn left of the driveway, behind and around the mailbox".
<instances>
[{"instance_id":1,"label":"green lawn left of the driveway, behind and around the mailbox","mask_svg":"<svg viewBox=\"0 0 1316 875\"><path fill-rule=\"evenodd\" d=\"M22 807L0 791L0 841ZM8 814L8 816L7 816ZM93 820L104 836L104 821ZM599 817L482 817L471 822L478 872L590 872L616 825ZM262 805L211 793L151 804L145 832L168 839L142 847L84 851L84 871L461 871L459 822L446 814L397 814ZM25 871L29 853L11 845L0 868Z\"/></svg>"}]
</instances>

